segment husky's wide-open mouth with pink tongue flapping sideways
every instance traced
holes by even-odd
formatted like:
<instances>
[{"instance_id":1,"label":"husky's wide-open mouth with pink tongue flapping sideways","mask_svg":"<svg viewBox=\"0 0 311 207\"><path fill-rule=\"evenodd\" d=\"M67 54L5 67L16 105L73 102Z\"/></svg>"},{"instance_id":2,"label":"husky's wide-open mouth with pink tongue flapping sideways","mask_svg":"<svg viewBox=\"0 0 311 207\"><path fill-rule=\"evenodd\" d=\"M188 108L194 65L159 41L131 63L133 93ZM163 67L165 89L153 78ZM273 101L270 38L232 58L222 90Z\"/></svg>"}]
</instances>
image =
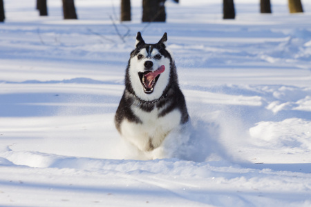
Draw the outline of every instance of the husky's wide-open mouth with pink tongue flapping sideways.
<instances>
[{"instance_id":1,"label":"husky's wide-open mouth with pink tongue flapping sideways","mask_svg":"<svg viewBox=\"0 0 311 207\"><path fill-rule=\"evenodd\" d=\"M158 70L138 72L138 76L140 77L140 82L142 83L145 93L153 92L153 88L156 86L160 74L164 72L164 70L165 66L160 66Z\"/></svg>"}]
</instances>

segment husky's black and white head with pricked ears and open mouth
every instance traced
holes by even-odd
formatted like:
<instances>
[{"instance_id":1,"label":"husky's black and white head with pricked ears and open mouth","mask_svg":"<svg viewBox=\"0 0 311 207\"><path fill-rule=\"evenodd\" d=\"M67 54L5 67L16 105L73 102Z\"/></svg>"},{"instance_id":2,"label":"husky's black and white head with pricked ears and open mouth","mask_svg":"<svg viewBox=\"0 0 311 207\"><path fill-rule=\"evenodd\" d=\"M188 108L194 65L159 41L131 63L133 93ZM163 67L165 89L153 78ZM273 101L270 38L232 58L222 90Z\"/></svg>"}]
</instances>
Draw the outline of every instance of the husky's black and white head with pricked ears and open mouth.
<instances>
[{"instance_id":1,"label":"husky's black and white head with pricked ears and open mouth","mask_svg":"<svg viewBox=\"0 0 311 207\"><path fill-rule=\"evenodd\" d=\"M129 60L129 80L135 95L151 101L162 96L169 84L172 58L166 49L167 33L156 44L147 44L138 32Z\"/></svg>"}]
</instances>

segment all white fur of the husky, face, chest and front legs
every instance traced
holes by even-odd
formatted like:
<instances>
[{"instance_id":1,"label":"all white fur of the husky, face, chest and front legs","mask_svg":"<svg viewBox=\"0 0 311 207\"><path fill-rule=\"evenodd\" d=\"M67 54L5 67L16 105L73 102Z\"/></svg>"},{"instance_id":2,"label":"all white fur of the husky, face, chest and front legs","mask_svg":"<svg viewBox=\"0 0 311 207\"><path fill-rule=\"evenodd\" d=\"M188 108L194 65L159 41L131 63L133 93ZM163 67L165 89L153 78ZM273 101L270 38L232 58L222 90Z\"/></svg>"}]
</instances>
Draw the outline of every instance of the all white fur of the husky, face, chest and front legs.
<instances>
[{"instance_id":1,"label":"all white fur of the husky, face, chest and front legs","mask_svg":"<svg viewBox=\"0 0 311 207\"><path fill-rule=\"evenodd\" d=\"M139 41L136 41L136 44L138 43ZM138 55L142 55L142 59L138 59ZM169 83L171 61L169 58L163 57L156 48L153 48L151 52L151 47L143 48L138 55L131 58L129 63L129 79L135 95L144 101L159 99ZM155 59L156 55L161 55L161 59ZM165 70L160 74L151 94L144 92L138 75L138 72L144 72L146 61L153 62L153 67L150 68L153 71L158 70L160 66L165 66ZM120 133L124 140L134 146L135 150L131 151L132 157L134 154L138 155L139 159L173 157L180 152L178 146L187 142L189 139L185 130L187 124L180 124L182 112L176 108L163 117L158 117L165 109L165 106L160 109L155 106L151 112L146 112L135 104L131 106L132 112L142 121L142 124L123 119L120 124Z\"/></svg>"}]
</instances>

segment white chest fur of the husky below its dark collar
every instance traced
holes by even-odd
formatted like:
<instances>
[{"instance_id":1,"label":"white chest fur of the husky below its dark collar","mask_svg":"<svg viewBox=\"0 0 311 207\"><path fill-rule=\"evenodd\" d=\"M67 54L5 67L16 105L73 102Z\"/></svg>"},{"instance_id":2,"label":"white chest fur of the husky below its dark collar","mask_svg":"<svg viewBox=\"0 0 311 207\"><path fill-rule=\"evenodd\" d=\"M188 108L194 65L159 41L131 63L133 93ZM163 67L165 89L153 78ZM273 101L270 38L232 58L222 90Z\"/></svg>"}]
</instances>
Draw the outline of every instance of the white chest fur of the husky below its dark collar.
<instances>
[{"instance_id":1,"label":"white chest fur of the husky below its dark collar","mask_svg":"<svg viewBox=\"0 0 311 207\"><path fill-rule=\"evenodd\" d=\"M142 124L136 124L124 119L121 124L122 135L126 135L134 146L142 151L149 150L149 139L154 148L158 148L169 132L180 126L181 113L179 110L173 110L164 117L158 117L158 108L151 112L144 112L135 106L132 110L141 120Z\"/></svg>"}]
</instances>

